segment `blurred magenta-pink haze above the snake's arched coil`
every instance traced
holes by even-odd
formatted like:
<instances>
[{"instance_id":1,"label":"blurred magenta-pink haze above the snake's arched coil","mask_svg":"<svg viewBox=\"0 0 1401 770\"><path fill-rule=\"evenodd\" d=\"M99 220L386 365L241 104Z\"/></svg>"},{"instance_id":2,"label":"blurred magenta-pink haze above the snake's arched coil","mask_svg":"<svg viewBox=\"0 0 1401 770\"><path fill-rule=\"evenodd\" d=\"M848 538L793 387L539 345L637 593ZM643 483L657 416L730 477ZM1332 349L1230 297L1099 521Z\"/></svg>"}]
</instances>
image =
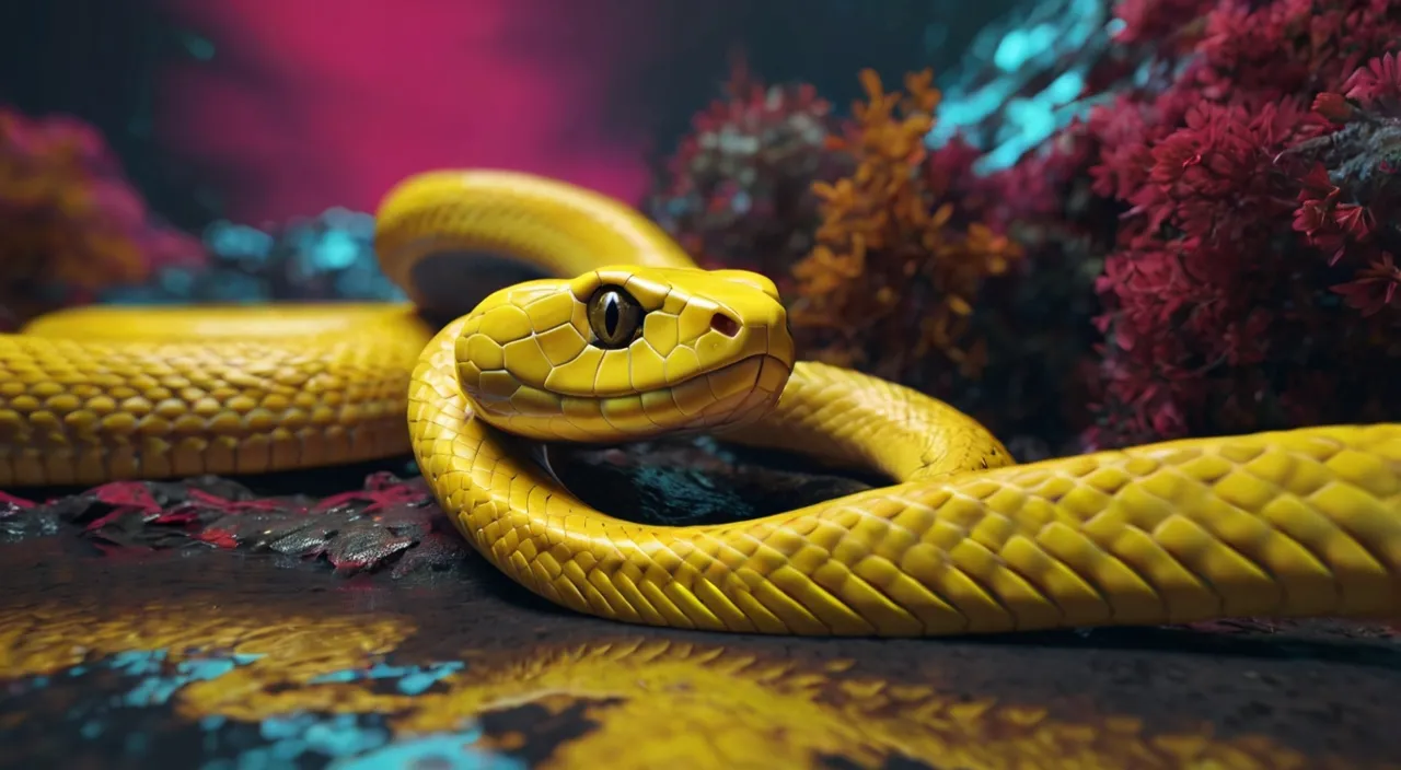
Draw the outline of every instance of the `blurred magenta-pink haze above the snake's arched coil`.
<instances>
[{"instance_id":1,"label":"blurred magenta-pink haze above the snake's arched coil","mask_svg":"<svg viewBox=\"0 0 1401 770\"><path fill-rule=\"evenodd\" d=\"M373 210L405 175L514 168L636 200L668 59L646 0L171 0L217 55L168 74L161 132L261 224ZM398 11L395 10L398 8ZM622 87L619 87L622 84Z\"/></svg>"}]
</instances>

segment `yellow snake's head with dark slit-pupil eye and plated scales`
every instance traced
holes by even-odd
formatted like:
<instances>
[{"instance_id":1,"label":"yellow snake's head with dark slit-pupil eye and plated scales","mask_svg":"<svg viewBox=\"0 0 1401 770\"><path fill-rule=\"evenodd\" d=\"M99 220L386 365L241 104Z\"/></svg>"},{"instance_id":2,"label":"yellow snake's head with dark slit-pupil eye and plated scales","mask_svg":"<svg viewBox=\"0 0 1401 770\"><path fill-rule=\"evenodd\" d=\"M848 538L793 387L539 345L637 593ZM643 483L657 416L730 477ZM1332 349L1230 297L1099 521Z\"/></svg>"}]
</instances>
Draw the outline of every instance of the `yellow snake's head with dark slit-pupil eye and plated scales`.
<instances>
[{"instance_id":1,"label":"yellow snake's head with dark slit-pupil eye and plated scales","mask_svg":"<svg viewBox=\"0 0 1401 770\"><path fill-rule=\"evenodd\" d=\"M752 421L793 371L793 337L758 273L612 266L492 294L455 356L488 424L618 442Z\"/></svg>"}]
</instances>

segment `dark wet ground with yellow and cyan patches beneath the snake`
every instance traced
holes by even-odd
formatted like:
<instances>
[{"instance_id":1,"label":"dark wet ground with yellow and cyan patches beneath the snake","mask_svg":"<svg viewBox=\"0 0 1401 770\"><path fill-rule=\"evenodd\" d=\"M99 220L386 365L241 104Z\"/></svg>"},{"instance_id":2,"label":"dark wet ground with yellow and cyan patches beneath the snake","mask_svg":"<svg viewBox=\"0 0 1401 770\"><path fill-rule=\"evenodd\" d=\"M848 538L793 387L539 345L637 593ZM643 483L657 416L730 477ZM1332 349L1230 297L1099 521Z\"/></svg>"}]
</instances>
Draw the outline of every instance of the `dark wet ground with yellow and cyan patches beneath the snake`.
<instances>
[{"instance_id":1,"label":"dark wet ground with yellow and cyan patches beneath the snake","mask_svg":"<svg viewBox=\"0 0 1401 770\"><path fill-rule=\"evenodd\" d=\"M562 476L672 519L853 486L647 458L598 454ZM203 489L111 486L0 514L0 766L1401 766L1401 643L1384 626L637 629L525 594L416 483L378 476L321 503Z\"/></svg>"}]
</instances>

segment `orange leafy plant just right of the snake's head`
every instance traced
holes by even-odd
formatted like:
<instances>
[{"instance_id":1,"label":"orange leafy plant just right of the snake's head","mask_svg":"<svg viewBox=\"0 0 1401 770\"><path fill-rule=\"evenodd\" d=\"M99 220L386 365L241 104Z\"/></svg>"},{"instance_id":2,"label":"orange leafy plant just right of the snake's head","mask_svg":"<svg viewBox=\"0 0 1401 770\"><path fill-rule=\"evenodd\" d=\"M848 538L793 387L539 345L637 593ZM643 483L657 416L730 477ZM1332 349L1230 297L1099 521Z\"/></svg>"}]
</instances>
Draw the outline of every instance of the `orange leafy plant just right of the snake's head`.
<instances>
[{"instance_id":1,"label":"orange leafy plant just right of the snake's head","mask_svg":"<svg viewBox=\"0 0 1401 770\"><path fill-rule=\"evenodd\" d=\"M954 224L946 181L926 164L940 99L933 73L906 76L905 94L885 94L873 70L860 78L869 104L856 102L846 136L828 140L856 171L813 186L822 224L793 266L794 333L810 356L904 382L922 379L915 370L932 354L978 377L986 347L968 339L978 290L1021 249L986 225Z\"/></svg>"}]
</instances>

